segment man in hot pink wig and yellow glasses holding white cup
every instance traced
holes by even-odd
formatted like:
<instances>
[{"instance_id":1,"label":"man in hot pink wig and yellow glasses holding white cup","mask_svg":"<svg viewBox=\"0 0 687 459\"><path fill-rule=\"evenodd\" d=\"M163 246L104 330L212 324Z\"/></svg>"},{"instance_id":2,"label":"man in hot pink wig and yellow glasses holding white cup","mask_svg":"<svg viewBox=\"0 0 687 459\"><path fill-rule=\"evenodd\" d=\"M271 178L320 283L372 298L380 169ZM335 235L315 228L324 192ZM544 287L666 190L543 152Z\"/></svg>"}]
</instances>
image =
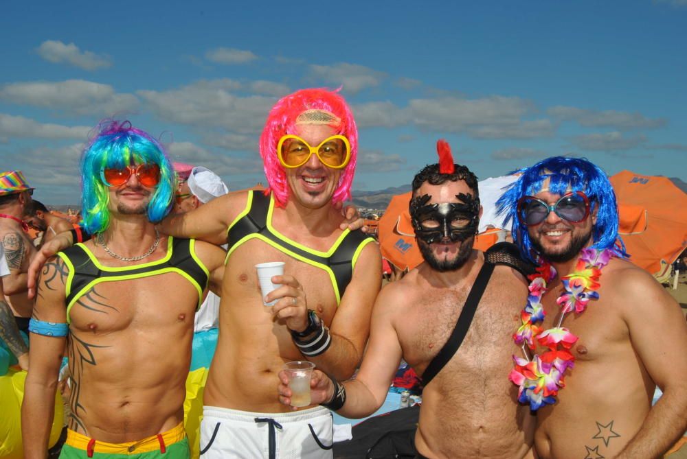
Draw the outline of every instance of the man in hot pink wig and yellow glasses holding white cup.
<instances>
[{"instance_id":1,"label":"man in hot pink wig and yellow glasses holding white cup","mask_svg":"<svg viewBox=\"0 0 687 459\"><path fill-rule=\"evenodd\" d=\"M357 128L343 98L297 91L271 110L260 138L269 183L174 215L172 235L229 241L220 332L203 395L204 458L332 457L332 416L292 413L275 392L284 362L310 360L335 379L359 364L381 285L376 244L346 228ZM228 229L228 233L227 233ZM282 287L260 291L256 263L283 261ZM277 301L272 307L263 305ZM310 425L311 427L308 427ZM312 432L311 432L312 430Z\"/></svg>"}]
</instances>

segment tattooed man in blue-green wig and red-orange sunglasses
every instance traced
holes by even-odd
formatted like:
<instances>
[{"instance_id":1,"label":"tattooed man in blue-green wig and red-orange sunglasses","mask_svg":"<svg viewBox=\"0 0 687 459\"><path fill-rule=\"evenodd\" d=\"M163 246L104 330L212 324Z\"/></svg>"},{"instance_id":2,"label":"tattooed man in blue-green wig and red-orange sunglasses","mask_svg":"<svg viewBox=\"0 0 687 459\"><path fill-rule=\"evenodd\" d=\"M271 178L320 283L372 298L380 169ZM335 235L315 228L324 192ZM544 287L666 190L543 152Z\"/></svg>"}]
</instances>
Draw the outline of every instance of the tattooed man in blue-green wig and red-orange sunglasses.
<instances>
[{"instance_id":1,"label":"tattooed man in blue-green wig and red-orange sunglasses","mask_svg":"<svg viewBox=\"0 0 687 459\"><path fill-rule=\"evenodd\" d=\"M30 322L25 458L45 458L67 340L71 417L60 458L188 458L183 429L193 317L224 251L157 233L176 184L157 141L113 121L87 146L83 225L95 237L49 259Z\"/></svg>"}]
</instances>

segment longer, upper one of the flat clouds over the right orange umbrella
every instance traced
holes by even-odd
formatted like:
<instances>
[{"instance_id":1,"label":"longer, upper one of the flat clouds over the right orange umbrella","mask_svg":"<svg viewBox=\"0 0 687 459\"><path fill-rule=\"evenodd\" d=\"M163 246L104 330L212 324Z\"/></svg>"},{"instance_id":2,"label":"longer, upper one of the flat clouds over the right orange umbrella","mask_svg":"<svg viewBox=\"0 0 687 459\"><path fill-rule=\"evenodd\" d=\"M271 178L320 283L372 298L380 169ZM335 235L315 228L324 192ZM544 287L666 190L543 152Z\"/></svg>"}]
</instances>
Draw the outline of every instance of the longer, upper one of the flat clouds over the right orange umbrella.
<instances>
[{"instance_id":1,"label":"longer, upper one of the flat clouds over the right orange umbrella","mask_svg":"<svg viewBox=\"0 0 687 459\"><path fill-rule=\"evenodd\" d=\"M577 121L587 128L615 128L618 130L652 129L666 125L666 119L650 119L641 113L617 110L585 110L583 108L555 106L547 111L549 115L563 121Z\"/></svg>"}]
</instances>

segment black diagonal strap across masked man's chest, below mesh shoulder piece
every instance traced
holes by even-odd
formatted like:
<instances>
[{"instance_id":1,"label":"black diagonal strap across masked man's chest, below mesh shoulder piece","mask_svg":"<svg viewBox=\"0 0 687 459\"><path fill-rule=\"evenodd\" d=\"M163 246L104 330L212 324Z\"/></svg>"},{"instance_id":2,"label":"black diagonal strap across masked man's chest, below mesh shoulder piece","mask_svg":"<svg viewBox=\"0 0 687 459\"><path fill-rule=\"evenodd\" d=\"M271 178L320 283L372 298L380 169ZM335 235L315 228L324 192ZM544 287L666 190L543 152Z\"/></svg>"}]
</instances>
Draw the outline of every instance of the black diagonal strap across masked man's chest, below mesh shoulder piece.
<instances>
[{"instance_id":1,"label":"black diagonal strap across masked man's chest, below mesh shoulder piece","mask_svg":"<svg viewBox=\"0 0 687 459\"><path fill-rule=\"evenodd\" d=\"M436 375L444 368L444 366L449 363L451 357L455 355L456 351L465 339L468 330L470 329L470 324L475 317L475 311L477 311L477 306L480 305L480 300L486 290L486 285L491 279L491 274L494 272L494 265L491 263L484 263L480 273L477 274L477 279L475 279L475 284L473 285L468 298L463 305L463 310L460 311L460 316L458 317L458 322L455 322L455 328L451 332L451 336L447 340L441 351L429 362L427 368L425 368L425 373L423 373L422 380L423 384L427 386L429 381L434 379Z\"/></svg>"}]
</instances>

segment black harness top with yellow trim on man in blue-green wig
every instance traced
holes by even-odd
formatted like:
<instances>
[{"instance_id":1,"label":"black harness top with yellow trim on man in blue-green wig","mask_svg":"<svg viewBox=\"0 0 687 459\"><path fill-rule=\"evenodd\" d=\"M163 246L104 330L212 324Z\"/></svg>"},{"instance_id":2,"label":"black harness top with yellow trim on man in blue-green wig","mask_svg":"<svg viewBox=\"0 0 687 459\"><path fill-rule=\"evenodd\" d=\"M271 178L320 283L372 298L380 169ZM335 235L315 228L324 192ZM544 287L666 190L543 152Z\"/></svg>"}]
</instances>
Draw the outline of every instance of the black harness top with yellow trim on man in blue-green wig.
<instances>
[{"instance_id":1,"label":"black harness top with yellow trim on man in blue-green wig","mask_svg":"<svg viewBox=\"0 0 687 459\"><path fill-rule=\"evenodd\" d=\"M57 255L69 267L65 284L67 296L67 323L71 323L69 311L83 295L101 282L126 281L142 277L157 276L167 272L176 272L187 279L198 291L198 307L203 301L203 291L207 287L210 273L197 257L194 250L194 239L167 238L167 254L150 263L135 266L102 266L84 244L75 244Z\"/></svg>"}]
</instances>

